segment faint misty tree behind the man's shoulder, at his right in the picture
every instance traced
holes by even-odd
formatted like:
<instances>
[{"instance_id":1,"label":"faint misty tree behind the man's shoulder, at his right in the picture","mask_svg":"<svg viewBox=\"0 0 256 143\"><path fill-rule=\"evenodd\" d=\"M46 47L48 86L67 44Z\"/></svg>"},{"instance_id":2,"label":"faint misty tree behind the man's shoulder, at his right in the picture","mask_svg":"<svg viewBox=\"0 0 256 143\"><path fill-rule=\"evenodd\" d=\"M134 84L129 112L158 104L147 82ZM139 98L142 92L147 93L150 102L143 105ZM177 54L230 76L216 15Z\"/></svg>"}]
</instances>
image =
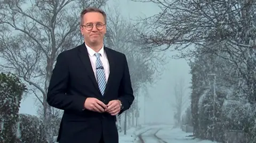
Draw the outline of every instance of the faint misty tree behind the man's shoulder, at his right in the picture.
<instances>
[{"instance_id":1,"label":"faint misty tree behind the man's shoulder, at his right in the picture","mask_svg":"<svg viewBox=\"0 0 256 143\"><path fill-rule=\"evenodd\" d=\"M129 64L131 82L134 91L134 96L139 95L139 90L146 85L150 85L156 81L155 76L161 75L161 65L164 63L164 56L161 53L151 51L143 51L143 45L132 43L133 39L138 38L135 32L135 27L131 21L125 19L117 6L106 7L107 18L107 33L105 45L115 49L126 55ZM128 127L134 125L135 113L138 112L137 98L135 98L131 108L124 113L124 130L126 124ZM121 118L122 116L117 116ZM117 119L121 121L121 119Z\"/></svg>"}]
</instances>

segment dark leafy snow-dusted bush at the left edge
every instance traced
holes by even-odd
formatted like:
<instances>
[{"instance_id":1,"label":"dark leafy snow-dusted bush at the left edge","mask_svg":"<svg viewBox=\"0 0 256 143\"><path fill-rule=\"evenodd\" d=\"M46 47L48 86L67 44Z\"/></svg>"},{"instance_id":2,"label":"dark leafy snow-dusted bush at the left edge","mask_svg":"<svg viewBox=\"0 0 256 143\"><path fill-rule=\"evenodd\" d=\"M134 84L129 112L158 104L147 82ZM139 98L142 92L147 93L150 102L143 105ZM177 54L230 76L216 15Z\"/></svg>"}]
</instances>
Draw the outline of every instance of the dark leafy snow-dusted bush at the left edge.
<instances>
[{"instance_id":1,"label":"dark leafy snow-dusted bush at the left edge","mask_svg":"<svg viewBox=\"0 0 256 143\"><path fill-rule=\"evenodd\" d=\"M26 86L13 74L0 74L0 142L17 140L20 100Z\"/></svg>"}]
</instances>

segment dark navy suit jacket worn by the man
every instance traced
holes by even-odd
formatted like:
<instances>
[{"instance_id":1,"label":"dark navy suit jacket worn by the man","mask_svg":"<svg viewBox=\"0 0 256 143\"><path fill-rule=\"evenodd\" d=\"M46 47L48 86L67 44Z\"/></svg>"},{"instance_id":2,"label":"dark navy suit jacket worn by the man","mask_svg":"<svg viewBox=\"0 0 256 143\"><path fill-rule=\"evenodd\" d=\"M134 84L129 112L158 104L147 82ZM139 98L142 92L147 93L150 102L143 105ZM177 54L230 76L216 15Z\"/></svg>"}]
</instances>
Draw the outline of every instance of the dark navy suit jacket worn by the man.
<instances>
[{"instance_id":1,"label":"dark navy suit jacket worn by the man","mask_svg":"<svg viewBox=\"0 0 256 143\"><path fill-rule=\"evenodd\" d=\"M84 43L57 57L47 92L47 103L64 110L57 139L60 143L98 143L101 136L106 143L118 142L116 116L83 110L87 97L98 98L105 104L110 100L121 100L123 110L119 114L133 103L125 55L104 48L110 69L104 96L99 90Z\"/></svg>"}]
</instances>

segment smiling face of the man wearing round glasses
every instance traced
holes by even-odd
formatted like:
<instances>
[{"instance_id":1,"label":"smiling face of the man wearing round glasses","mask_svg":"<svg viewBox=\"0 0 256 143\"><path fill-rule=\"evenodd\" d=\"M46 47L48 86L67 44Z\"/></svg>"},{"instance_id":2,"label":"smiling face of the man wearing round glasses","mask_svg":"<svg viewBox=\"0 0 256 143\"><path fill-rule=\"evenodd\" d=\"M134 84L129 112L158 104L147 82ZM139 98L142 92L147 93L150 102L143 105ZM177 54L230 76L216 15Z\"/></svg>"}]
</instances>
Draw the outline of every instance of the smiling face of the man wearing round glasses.
<instances>
[{"instance_id":1,"label":"smiling face of the man wearing round glasses","mask_svg":"<svg viewBox=\"0 0 256 143\"><path fill-rule=\"evenodd\" d=\"M105 19L99 12L89 12L84 14L84 23L81 26L81 33L86 43L90 45L103 43L106 33ZM98 29L97 29L98 27Z\"/></svg>"}]
</instances>

